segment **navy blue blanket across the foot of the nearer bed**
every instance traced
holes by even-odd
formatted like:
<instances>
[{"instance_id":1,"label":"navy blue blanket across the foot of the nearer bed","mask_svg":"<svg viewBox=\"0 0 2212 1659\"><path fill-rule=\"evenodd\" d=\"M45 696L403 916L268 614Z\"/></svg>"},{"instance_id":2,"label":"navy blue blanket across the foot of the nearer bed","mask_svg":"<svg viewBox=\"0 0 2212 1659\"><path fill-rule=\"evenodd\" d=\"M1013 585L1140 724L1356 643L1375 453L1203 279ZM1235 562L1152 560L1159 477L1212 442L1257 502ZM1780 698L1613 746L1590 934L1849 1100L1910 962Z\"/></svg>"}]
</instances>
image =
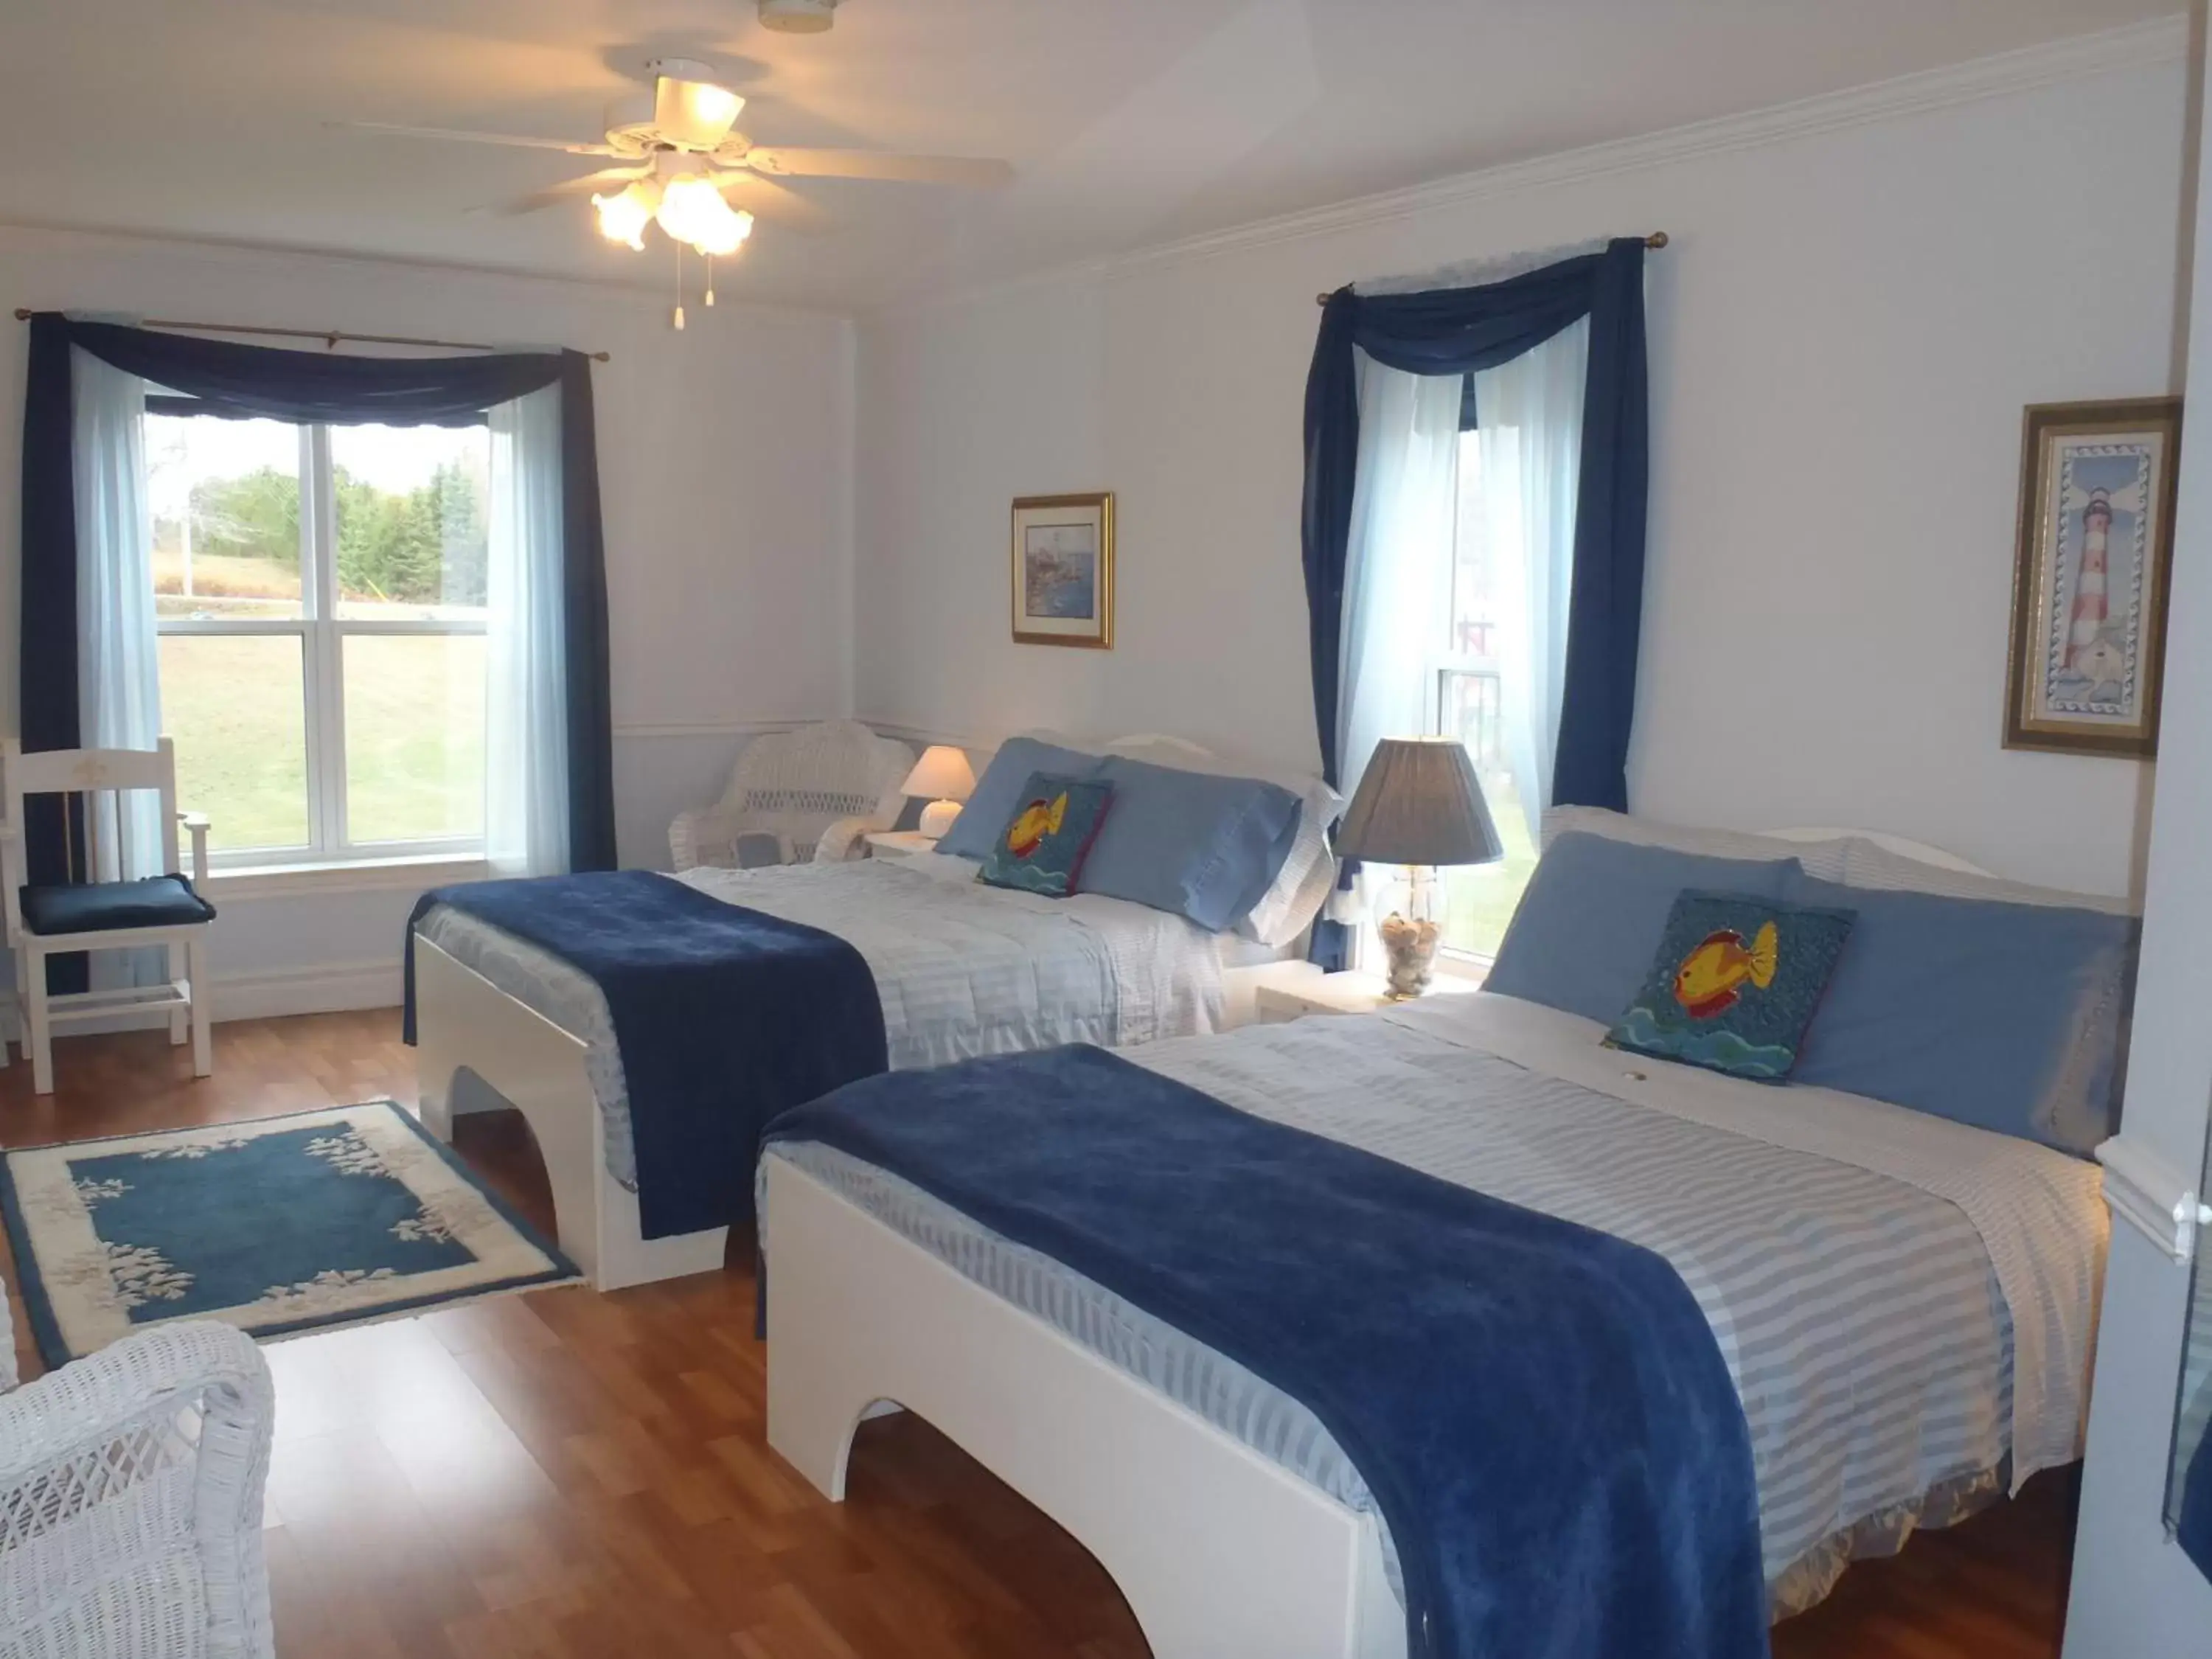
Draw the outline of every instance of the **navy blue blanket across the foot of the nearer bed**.
<instances>
[{"instance_id":1,"label":"navy blue blanket across the foot of the nearer bed","mask_svg":"<svg viewBox=\"0 0 2212 1659\"><path fill-rule=\"evenodd\" d=\"M891 1170L1303 1400L1389 1522L1416 1659L1767 1652L1750 1431L1663 1256L1086 1046L872 1077L765 1139Z\"/></svg>"}]
</instances>

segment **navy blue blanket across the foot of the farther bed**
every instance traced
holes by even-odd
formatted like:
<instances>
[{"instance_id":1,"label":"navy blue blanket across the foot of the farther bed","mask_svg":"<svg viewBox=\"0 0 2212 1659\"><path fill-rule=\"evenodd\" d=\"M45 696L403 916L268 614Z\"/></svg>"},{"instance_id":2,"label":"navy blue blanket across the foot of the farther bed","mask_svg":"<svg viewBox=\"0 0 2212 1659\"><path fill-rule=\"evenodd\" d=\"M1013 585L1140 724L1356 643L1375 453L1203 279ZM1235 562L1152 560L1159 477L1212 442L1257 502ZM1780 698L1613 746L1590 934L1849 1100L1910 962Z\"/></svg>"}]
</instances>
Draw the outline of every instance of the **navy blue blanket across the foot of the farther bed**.
<instances>
[{"instance_id":1,"label":"navy blue blanket across the foot of the farther bed","mask_svg":"<svg viewBox=\"0 0 2212 1659\"><path fill-rule=\"evenodd\" d=\"M723 905L650 869L480 880L422 896L480 916L597 982L615 1022L646 1239L752 1217L761 1128L883 1071L876 975L836 933Z\"/></svg>"}]
</instances>

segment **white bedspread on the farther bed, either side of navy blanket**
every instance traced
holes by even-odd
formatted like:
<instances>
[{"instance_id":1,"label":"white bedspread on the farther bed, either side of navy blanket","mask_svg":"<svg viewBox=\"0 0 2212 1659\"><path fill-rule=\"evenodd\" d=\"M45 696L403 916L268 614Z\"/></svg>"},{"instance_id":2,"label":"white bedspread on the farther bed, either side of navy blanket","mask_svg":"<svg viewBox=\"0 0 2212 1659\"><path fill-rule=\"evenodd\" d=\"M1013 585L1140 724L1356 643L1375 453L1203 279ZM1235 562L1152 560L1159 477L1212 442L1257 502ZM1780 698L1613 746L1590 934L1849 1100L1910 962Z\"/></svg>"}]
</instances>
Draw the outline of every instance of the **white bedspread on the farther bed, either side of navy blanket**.
<instances>
[{"instance_id":1,"label":"white bedspread on the farther bed, either side of navy blanket","mask_svg":"<svg viewBox=\"0 0 2212 1659\"><path fill-rule=\"evenodd\" d=\"M675 880L836 933L860 951L876 975L894 1071L1057 1042L1119 1048L1221 1022L1212 933L1121 898L987 887L973 860L940 854L688 869ZM418 931L584 1040L606 1166L633 1186L630 1095L599 987L557 956L447 905L434 907Z\"/></svg>"}]
</instances>

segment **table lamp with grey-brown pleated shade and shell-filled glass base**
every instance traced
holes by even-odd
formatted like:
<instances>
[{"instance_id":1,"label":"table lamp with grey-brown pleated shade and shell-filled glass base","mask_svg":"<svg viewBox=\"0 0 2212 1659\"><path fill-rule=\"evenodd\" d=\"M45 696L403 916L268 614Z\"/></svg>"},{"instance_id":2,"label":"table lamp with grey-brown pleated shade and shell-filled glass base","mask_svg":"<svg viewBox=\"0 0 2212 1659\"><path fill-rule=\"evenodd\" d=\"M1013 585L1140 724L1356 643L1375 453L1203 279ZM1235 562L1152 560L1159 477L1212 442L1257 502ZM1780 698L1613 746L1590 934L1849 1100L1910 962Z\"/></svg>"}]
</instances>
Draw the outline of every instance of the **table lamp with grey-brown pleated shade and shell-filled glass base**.
<instances>
[{"instance_id":1,"label":"table lamp with grey-brown pleated shade and shell-filled glass base","mask_svg":"<svg viewBox=\"0 0 2212 1659\"><path fill-rule=\"evenodd\" d=\"M1438 865L1489 865L1504 856L1475 763L1455 737L1385 737L1336 834L1336 854L1374 865L1407 865L1405 914L1376 931L1389 964L1389 1000L1429 989L1444 922L1438 916Z\"/></svg>"}]
</instances>

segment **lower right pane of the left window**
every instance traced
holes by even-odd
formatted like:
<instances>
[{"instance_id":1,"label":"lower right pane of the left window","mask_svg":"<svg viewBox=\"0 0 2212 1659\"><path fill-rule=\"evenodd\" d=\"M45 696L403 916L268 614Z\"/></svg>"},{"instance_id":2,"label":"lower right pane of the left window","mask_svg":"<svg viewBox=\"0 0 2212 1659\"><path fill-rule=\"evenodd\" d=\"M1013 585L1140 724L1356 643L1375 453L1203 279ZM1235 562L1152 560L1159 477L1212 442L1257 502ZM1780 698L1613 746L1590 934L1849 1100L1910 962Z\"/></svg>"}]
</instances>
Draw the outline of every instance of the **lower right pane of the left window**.
<instances>
[{"instance_id":1,"label":"lower right pane of the left window","mask_svg":"<svg viewBox=\"0 0 2212 1659\"><path fill-rule=\"evenodd\" d=\"M484 635L347 635L347 841L482 834Z\"/></svg>"}]
</instances>

